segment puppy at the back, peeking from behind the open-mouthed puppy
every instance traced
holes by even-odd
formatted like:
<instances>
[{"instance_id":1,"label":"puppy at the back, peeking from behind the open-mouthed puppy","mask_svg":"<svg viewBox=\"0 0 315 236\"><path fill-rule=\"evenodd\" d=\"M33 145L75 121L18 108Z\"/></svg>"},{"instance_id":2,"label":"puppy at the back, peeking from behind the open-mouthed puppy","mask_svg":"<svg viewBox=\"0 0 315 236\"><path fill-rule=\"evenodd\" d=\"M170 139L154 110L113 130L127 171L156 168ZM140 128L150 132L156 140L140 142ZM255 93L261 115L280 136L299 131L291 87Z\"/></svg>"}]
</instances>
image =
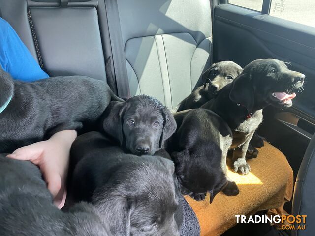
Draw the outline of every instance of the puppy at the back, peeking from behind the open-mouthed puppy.
<instances>
[{"instance_id":1,"label":"puppy at the back, peeking from behind the open-mouthed puppy","mask_svg":"<svg viewBox=\"0 0 315 236\"><path fill-rule=\"evenodd\" d=\"M225 85L231 83L242 70L242 67L233 61L221 61L211 65L206 83L185 98L179 104L177 112L201 107L214 98Z\"/></svg>"}]
</instances>

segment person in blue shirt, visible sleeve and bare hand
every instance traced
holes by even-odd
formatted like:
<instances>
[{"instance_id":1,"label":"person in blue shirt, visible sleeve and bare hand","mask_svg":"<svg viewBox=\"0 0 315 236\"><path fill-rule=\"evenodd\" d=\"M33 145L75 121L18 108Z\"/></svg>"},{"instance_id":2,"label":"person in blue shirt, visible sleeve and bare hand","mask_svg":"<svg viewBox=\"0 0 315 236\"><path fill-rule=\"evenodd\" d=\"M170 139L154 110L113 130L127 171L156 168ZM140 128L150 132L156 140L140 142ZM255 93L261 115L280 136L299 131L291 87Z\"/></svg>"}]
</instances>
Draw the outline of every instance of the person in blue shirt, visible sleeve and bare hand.
<instances>
[{"instance_id":1,"label":"person in blue shirt, visible sleeve and bare hand","mask_svg":"<svg viewBox=\"0 0 315 236\"><path fill-rule=\"evenodd\" d=\"M30 82L48 78L14 29L2 18L0 18L0 66L17 80ZM55 203L60 204L60 207L65 200L64 184L70 147L76 136L75 130L64 130L47 141L19 148L8 155L19 160L30 160L38 165L48 189L55 198Z\"/></svg>"}]
</instances>

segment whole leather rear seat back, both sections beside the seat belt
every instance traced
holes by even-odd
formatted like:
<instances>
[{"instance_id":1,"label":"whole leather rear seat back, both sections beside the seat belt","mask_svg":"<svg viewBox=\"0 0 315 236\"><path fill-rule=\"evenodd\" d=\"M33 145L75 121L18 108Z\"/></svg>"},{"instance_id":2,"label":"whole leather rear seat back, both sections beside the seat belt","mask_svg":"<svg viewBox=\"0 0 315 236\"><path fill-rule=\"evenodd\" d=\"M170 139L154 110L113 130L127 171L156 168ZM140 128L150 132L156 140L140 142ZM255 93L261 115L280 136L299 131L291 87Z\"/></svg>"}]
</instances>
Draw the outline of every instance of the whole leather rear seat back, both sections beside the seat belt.
<instances>
[{"instance_id":1,"label":"whole leather rear seat back, both sections beside the seat belt","mask_svg":"<svg viewBox=\"0 0 315 236\"><path fill-rule=\"evenodd\" d=\"M176 107L212 63L209 0L117 4L131 95L148 94ZM0 0L0 9L50 76L106 79L104 58L115 42L103 0ZM107 82L116 92L116 82Z\"/></svg>"}]
</instances>

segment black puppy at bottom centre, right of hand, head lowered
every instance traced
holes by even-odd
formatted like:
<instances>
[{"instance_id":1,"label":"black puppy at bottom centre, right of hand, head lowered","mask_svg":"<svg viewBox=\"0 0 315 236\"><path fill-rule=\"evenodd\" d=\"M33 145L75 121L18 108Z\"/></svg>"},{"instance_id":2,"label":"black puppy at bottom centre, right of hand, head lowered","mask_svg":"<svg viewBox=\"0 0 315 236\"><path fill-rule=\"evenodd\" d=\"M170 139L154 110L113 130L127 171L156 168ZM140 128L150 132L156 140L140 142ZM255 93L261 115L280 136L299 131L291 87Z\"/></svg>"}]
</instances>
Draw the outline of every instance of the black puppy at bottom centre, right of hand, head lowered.
<instances>
[{"instance_id":1,"label":"black puppy at bottom centre, right of hand, head lowered","mask_svg":"<svg viewBox=\"0 0 315 236\"><path fill-rule=\"evenodd\" d=\"M179 236L180 190L171 160L126 154L97 132L79 136L71 154L80 161L70 195L101 209L111 236Z\"/></svg>"}]
</instances>

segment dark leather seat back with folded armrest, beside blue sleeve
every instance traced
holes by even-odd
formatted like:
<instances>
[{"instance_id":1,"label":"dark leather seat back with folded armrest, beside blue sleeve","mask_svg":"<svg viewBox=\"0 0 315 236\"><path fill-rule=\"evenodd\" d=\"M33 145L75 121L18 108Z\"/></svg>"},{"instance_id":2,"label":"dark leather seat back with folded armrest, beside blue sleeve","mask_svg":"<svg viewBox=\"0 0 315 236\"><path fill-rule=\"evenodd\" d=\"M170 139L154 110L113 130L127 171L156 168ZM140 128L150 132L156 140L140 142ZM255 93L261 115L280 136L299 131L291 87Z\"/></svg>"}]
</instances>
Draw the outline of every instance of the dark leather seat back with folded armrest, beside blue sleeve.
<instances>
[{"instance_id":1,"label":"dark leather seat back with folded armrest, beside blue sleeve","mask_svg":"<svg viewBox=\"0 0 315 236\"><path fill-rule=\"evenodd\" d=\"M98 0L0 0L0 9L50 76L106 79Z\"/></svg>"}]
</instances>

